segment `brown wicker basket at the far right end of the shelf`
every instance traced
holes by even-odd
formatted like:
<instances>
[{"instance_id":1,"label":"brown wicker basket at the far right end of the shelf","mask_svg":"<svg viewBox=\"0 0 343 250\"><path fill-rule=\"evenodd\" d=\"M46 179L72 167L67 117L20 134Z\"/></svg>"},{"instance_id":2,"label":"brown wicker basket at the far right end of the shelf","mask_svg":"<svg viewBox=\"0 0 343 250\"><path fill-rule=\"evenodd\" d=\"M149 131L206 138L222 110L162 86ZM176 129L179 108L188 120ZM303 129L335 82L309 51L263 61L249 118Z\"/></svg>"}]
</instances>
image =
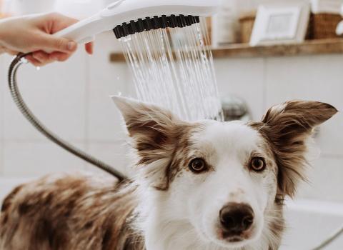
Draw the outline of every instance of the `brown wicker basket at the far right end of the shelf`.
<instances>
[{"instance_id":1,"label":"brown wicker basket at the far right end of the shelf","mask_svg":"<svg viewBox=\"0 0 343 250\"><path fill-rule=\"evenodd\" d=\"M309 21L309 39L330 39L336 38L336 28L342 21L339 14L320 13L312 14Z\"/></svg>"}]
</instances>

